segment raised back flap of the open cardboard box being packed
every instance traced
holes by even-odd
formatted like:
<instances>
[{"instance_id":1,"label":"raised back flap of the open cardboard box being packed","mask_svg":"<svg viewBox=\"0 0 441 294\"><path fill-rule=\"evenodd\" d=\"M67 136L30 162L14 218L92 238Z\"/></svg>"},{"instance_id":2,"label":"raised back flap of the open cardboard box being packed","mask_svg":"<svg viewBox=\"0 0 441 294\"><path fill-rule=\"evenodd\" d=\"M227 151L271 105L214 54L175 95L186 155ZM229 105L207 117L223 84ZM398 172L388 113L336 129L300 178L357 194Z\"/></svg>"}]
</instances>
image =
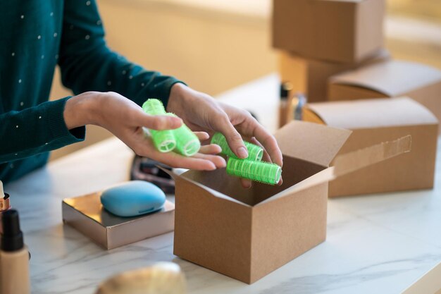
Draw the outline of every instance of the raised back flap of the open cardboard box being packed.
<instances>
[{"instance_id":1,"label":"raised back flap of the open cardboard box being packed","mask_svg":"<svg viewBox=\"0 0 441 294\"><path fill-rule=\"evenodd\" d=\"M341 128L292 121L275 133L275 139L283 154L329 166L351 133Z\"/></svg>"}]
</instances>

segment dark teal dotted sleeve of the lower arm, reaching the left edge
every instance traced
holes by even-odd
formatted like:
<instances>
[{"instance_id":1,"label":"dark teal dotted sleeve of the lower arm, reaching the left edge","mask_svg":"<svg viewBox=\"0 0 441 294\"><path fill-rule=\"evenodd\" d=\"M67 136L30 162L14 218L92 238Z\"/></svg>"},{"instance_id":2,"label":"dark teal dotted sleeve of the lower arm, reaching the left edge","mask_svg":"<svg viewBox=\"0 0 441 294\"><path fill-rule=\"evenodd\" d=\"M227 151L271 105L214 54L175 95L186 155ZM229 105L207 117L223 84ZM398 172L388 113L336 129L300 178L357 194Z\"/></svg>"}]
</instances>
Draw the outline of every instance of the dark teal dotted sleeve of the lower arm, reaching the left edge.
<instances>
[{"instance_id":1,"label":"dark teal dotted sleeve of the lower arm, reaching the left edge","mask_svg":"<svg viewBox=\"0 0 441 294\"><path fill-rule=\"evenodd\" d=\"M63 111L69 98L0 114L0 164L84 140L84 126L66 128Z\"/></svg>"}]
</instances>

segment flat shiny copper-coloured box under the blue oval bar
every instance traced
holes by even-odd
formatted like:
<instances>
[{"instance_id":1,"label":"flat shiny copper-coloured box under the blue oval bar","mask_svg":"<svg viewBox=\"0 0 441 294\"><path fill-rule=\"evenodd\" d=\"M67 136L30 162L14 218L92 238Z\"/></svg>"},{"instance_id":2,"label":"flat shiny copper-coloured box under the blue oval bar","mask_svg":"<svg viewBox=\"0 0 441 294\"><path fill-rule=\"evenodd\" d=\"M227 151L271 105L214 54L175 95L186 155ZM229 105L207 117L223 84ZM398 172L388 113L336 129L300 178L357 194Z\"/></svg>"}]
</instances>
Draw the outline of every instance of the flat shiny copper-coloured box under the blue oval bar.
<instances>
[{"instance_id":1,"label":"flat shiny copper-coloured box under the blue oval bar","mask_svg":"<svg viewBox=\"0 0 441 294\"><path fill-rule=\"evenodd\" d=\"M154 214L120 217L101 205L101 192L63 200L63 222L107 250L173 231L175 204L166 200Z\"/></svg>"}]
</instances>

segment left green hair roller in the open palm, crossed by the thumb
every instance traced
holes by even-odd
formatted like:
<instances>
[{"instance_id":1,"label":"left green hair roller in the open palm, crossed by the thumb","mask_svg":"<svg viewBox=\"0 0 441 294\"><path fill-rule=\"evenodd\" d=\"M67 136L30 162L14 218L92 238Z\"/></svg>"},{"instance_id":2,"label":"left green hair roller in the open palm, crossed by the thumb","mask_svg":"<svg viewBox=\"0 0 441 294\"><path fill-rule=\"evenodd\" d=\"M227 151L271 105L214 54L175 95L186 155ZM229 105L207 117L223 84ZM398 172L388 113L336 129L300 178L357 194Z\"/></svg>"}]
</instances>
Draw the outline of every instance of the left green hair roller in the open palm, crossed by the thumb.
<instances>
[{"instance_id":1,"label":"left green hair roller in the open palm, crossed by the thumb","mask_svg":"<svg viewBox=\"0 0 441 294\"><path fill-rule=\"evenodd\" d=\"M161 100L158 99L148 99L144 104L142 104L142 110L146 114L151 116L161 116L166 115L166 109L164 108ZM159 152L170 152L176 147L175 136L173 135L173 130L151 130L151 140L159 150Z\"/></svg>"}]
</instances>

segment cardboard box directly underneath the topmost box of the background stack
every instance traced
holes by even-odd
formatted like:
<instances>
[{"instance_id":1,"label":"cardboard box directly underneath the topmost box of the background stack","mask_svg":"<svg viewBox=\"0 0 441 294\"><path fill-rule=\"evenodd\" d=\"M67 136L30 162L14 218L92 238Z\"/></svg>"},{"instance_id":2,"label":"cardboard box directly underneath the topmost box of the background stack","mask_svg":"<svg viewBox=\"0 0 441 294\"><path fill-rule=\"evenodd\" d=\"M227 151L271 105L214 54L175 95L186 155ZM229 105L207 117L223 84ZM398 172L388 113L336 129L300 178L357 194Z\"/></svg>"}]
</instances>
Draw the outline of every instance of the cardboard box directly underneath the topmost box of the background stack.
<instances>
[{"instance_id":1,"label":"cardboard box directly underneath the topmost box of the background stack","mask_svg":"<svg viewBox=\"0 0 441 294\"><path fill-rule=\"evenodd\" d=\"M292 92L306 94L309 102L322 102L327 100L328 78L332 75L389 59L390 53L386 49L376 51L375 54L359 63L336 63L305 59L289 51L280 51L278 54L278 69L282 82L291 82Z\"/></svg>"}]
</instances>

